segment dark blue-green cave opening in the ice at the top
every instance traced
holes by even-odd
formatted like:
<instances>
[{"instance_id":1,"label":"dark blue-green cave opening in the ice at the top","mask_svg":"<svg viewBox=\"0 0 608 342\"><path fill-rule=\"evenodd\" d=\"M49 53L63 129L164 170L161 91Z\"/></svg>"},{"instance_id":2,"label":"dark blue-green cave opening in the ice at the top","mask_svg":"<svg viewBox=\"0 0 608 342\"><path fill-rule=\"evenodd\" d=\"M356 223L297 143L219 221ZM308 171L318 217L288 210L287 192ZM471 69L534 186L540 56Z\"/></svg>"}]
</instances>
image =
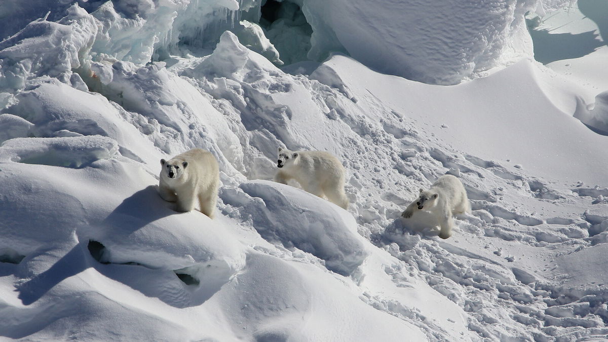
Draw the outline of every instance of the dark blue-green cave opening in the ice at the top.
<instances>
[{"instance_id":1,"label":"dark blue-green cave opening in the ice at the top","mask_svg":"<svg viewBox=\"0 0 608 342\"><path fill-rule=\"evenodd\" d=\"M277 49L285 65L307 61L313 28L299 5L275 0L262 1L260 27Z\"/></svg>"}]
</instances>

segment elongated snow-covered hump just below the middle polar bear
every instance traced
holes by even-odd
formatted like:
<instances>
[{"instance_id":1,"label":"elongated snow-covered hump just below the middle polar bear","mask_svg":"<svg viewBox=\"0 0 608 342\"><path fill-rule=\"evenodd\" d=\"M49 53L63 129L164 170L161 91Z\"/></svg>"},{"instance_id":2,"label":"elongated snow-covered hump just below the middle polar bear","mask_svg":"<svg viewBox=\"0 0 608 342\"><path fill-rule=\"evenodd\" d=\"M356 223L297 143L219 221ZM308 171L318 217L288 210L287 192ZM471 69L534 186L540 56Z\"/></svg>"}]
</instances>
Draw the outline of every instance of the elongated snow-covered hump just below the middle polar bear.
<instances>
[{"instance_id":1,"label":"elongated snow-covered hump just below the middle polar bear","mask_svg":"<svg viewBox=\"0 0 608 342\"><path fill-rule=\"evenodd\" d=\"M224 203L250 213L254 227L271 242L295 246L325 260L328 270L348 275L367 257L364 240L347 211L291 186L249 181L237 189L223 189Z\"/></svg>"}]
</instances>

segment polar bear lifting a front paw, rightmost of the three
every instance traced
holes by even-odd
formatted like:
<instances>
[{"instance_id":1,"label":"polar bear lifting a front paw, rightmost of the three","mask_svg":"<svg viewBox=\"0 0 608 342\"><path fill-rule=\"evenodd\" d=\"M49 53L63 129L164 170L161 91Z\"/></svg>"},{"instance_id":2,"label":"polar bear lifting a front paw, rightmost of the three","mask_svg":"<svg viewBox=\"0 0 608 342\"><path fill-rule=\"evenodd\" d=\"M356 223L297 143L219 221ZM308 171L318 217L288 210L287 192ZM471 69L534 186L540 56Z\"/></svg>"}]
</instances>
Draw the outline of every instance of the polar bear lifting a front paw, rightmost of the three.
<instances>
[{"instance_id":1,"label":"polar bear lifting a front paw, rightmost of the three","mask_svg":"<svg viewBox=\"0 0 608 342\"><path fill-rule=\"evenodd\" d=\"M429 190L420 189L418 199L410 203L401 216L412 217L416 208L429 211L439 221L439 237L447 239L452 236L454 218L452 215L471 212L469 198L461 181L452 175L443 175L432 184Z\"/></svg>"}]
</instances>

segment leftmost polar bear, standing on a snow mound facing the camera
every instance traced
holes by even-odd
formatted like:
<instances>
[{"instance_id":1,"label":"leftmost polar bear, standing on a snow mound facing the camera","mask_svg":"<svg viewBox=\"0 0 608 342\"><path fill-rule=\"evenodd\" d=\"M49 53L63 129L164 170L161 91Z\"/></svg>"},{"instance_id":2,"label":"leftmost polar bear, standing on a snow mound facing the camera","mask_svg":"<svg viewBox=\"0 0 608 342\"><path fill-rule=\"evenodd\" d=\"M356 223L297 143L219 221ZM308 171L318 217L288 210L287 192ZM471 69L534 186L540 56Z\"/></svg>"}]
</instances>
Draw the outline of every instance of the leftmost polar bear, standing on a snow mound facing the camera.
<instances>
[{"instance_id":1,"label":"leftmost polar bear, standing on a snow mound facing the camera","mask_svg":"<svg viewBox=\"0 0 608 342\"><path fill-rule=\"evenodd\" d=\"M192 148L165 161L161 159L158 191L162 199L176 202L175 211L194 209L196 200L201 212L213 218L218 200L219 167L215 157L202 148Z\"/></svg>"}]
</instances>

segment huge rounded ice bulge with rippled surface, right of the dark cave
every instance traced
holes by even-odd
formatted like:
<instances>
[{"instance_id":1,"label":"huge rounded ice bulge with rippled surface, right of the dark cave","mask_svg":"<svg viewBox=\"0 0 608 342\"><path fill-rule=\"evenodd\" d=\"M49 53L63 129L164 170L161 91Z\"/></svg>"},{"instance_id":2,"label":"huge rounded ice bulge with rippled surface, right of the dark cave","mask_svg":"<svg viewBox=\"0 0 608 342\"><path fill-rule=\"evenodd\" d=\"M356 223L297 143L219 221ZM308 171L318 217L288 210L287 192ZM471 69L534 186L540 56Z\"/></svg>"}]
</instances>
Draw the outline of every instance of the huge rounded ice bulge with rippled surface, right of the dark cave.
<instances>
[{"instance_id":1,"label":"huge rounded ice bulge with rippled surface, right of the dark cave","mask_svg":"<svg viewBox=\"0 0 608 342\"><path fill-rule=\"evenodd\" d=\"M343 51L383 73L457 84L532 55L523 15L568 3L548 2L305 1L314 31L309 57Z\"/></svg>"}]
</instances>

